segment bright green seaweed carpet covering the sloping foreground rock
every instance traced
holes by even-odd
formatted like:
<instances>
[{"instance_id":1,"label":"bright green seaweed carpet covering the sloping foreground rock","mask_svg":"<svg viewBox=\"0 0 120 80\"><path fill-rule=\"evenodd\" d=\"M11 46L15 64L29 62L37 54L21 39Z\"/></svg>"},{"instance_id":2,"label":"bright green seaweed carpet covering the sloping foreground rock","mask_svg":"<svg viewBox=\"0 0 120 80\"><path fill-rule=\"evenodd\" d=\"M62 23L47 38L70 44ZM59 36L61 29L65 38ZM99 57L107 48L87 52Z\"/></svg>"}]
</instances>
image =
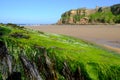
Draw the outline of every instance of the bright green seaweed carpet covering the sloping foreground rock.
<instances>
[{"instance_id":1,"label":"bright green seaweed carpet covering the sloping foreground rock","mask_svg":"<svg viewBox=\"0 0 120 80\"><path fill-rule=\"evenodd\" d=\"M35 57L42 54L38 49L41 46L47 49L49 57L56 62L59 79L63 77L60 71L66 61L72 72L79 66L87 80L120 80L120 55L100 46L73 37L6 25L0 26L0 32L3 34L0 40L6 43L16 64L19 64L18 54L21 54L21 50L35 61ZM29 38L11 36L16 32ZM21 68L18 66L16 70L21 71Z\"/></svg>"}]
</instances>

